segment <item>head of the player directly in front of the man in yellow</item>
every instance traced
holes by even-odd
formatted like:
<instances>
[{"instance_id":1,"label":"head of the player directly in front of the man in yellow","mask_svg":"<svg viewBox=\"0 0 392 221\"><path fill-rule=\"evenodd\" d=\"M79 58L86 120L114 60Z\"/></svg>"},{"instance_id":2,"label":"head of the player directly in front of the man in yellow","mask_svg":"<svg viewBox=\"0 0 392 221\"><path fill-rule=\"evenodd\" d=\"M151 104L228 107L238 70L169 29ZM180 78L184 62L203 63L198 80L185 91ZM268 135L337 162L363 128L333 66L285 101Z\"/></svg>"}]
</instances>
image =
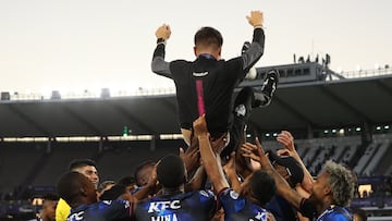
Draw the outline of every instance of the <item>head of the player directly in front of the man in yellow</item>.
<instances>
[{"instance_id":1,"label":"head of the player directly in front of the man in yellow","mask_svg":"<svg viewBox=\"0 0 392 221\"><path fill-rule=\"evenodd\" d=\"M97 201L94 184L82 173L70 171L60 176L57 191L71 208Z\"/></svg>"}]
</instances>

